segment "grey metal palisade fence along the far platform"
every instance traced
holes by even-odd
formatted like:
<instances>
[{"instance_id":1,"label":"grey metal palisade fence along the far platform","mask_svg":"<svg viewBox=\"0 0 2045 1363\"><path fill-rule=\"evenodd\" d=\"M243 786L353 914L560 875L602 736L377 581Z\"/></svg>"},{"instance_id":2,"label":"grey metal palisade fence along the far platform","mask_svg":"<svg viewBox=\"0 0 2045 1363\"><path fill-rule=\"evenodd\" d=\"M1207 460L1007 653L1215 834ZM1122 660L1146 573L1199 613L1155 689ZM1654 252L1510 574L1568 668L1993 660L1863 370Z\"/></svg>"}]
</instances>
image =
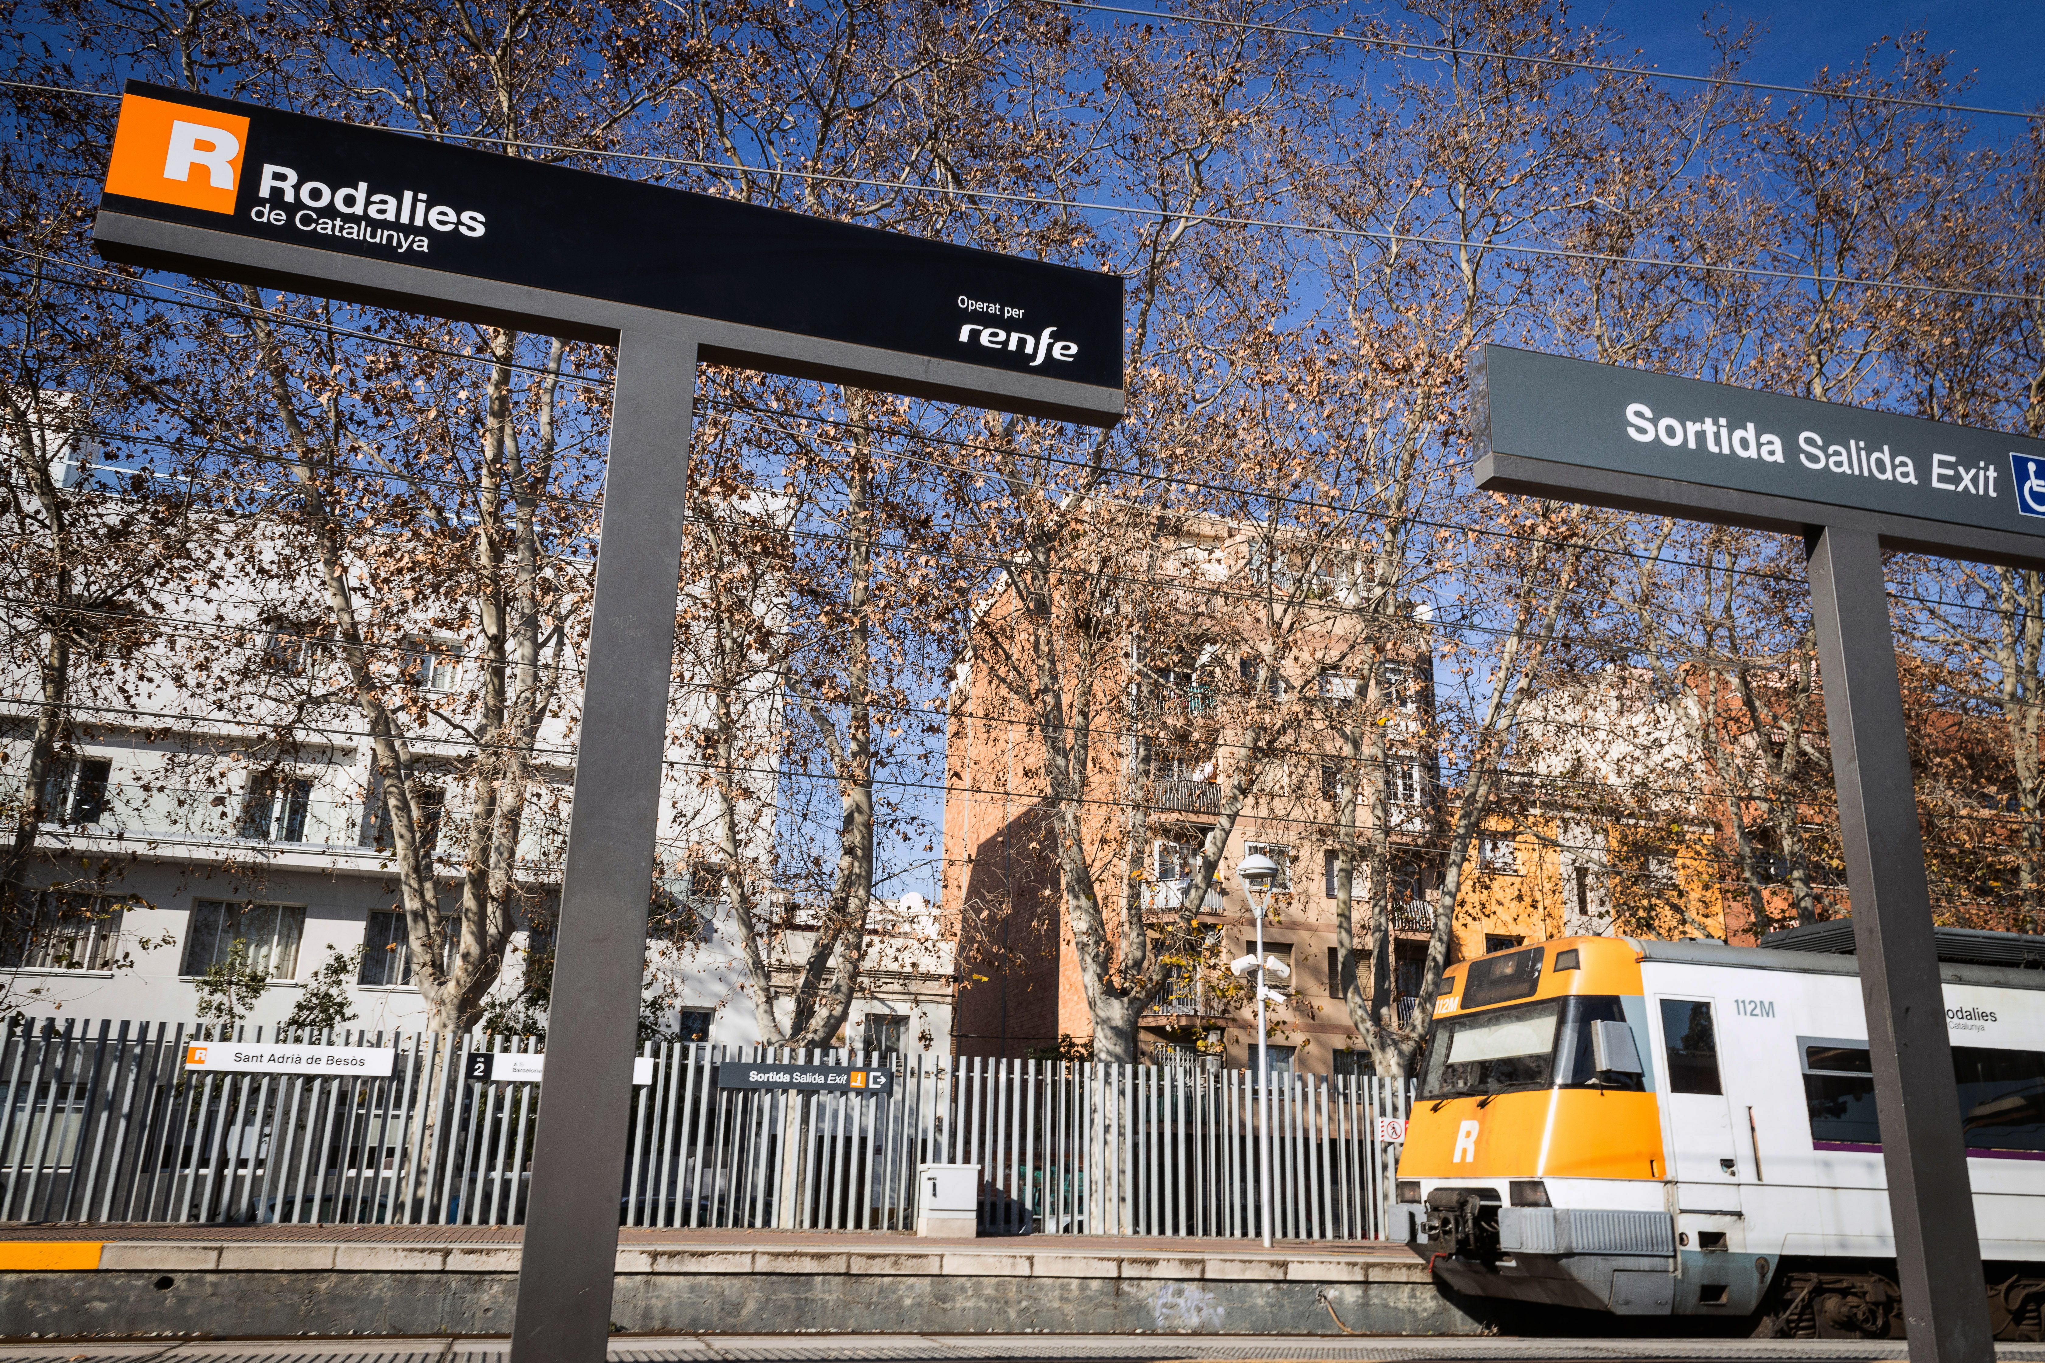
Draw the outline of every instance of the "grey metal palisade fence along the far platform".
<instances>
[{"instance_id":1,"label":"grey metal palisade fence along the far platform","mask_svg":"<svg viewBox=\"0 0 2045 1363\"><path fill-rule=\"evenodd\" d=\"M0 1046L0 1222L517 1224L540 1083L476 1079L530 1038L270 1036L374 1046L391 1073L186 1069L262 1028L10 1026ZM620 1222L912 1230L916 1167L980 1165L984 1234L1260 1236L1258 1089L1178 1065L650 1044ZM718 1065L888 1071L879 1091L738 1089ZM380 1067L376 1067L380 1069ZM642 1065L642 1069L648 1069ZM1274 1226L1372 1238L1393 1195L1401 1083L1278 1075Z\"/></svg>"}]
</instances>

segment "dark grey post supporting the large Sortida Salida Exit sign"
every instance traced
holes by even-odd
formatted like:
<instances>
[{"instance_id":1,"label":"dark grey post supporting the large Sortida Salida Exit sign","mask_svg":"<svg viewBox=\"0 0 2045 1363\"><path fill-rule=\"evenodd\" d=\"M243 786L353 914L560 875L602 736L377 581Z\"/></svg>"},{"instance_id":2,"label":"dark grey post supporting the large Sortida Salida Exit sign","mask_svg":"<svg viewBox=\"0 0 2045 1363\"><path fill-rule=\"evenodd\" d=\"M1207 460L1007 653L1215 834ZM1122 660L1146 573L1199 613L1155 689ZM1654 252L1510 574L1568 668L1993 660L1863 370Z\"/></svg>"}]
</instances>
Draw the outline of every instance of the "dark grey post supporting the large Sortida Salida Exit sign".
<instances>
[{"instance_id":1,"label":"dark grey post supporting the large Sortida Salida Exit sign","mask_svg":"<svg viewBox=\"0 0 2045 1363\"><path fill-rule=\"evenodd\" d=\"M1808 531L1806 546L1910 1357L1916 1363L1986 1363L1996 1357L1996 1345L1982 1289L1982 1240L1939 983L1881 542L1865 529L1834 525Z\"/></svg>"}]
</instances>

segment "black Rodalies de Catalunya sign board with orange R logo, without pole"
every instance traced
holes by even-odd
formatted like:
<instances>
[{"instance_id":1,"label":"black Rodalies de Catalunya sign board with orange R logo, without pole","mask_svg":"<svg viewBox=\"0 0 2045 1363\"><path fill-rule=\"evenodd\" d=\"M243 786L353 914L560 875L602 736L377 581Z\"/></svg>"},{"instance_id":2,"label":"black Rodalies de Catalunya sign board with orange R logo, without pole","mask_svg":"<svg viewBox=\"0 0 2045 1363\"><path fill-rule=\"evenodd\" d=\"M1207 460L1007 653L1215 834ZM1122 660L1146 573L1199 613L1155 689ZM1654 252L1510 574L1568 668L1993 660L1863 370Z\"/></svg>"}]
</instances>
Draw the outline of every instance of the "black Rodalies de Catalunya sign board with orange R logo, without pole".
<instances>
[{"instance_id":1,"label":"black Rodalies de Catalunya sign board with orange R logo, without pole","mask_svg":"<svg viewBox=\"0 0 2045 1363\"><path fill-rule=\"evenodd\" d=\"M129 82L104 210L1094 388L1123 282L994 251ZM112 260L249 278L217 253ZM276 270L260 272L276 284ZM305 272L325 296L348 272ZM395 300L413 307L415 300ZM431 309L460 315L458 309ZM566 329L573 335L573 329Z\"/></svg>"}]
</instances>

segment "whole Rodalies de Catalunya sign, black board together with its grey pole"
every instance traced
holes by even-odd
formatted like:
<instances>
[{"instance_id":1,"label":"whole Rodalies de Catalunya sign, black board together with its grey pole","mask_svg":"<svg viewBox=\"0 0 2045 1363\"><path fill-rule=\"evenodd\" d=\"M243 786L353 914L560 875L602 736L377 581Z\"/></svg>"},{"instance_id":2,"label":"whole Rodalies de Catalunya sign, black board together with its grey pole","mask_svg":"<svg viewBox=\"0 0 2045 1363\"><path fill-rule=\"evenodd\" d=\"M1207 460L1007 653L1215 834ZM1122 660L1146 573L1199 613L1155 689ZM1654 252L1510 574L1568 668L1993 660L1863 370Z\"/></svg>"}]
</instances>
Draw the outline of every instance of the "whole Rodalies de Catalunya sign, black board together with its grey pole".
<instances>
[{"instance_id":1,"label":"whole Rodalies de Catalunya sign, black board together with its grey pole","mask_svg":"<svg viewBox=\"0 0 2045 1363\"><path fill-rule=\"evenodd\" d=\"M511 1318L513 1363L599 1363L695 368L1112 425L1123 282L143 84L121 102L92 237L117 262L618 347Z\"/></svg>"}]
</instances>

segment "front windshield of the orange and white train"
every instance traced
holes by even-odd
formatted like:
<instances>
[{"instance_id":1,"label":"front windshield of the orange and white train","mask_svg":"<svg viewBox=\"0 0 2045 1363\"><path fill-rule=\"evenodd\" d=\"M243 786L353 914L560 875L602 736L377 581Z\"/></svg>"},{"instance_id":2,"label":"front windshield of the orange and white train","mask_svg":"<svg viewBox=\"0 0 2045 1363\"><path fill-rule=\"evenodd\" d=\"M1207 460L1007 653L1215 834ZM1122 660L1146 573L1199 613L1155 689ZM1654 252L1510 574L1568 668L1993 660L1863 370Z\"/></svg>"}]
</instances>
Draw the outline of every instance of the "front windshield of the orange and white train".
<instances>
[{"instance_id":1,"label":"front windshield of the orange and white train","mask_svg":"<svg viewBox=\"0 0 2045 1363\"><path fill-rule=\"evenodd\" d=\"M1521 1089L1642 1087L1642 1075L1597 1073L1591 1022L1605 1020L1626 1020L1620 999L1573 995L1444 1018L1427 1042L1419 1095L1438 1099Z\"/></svg>"}]
</instances>

